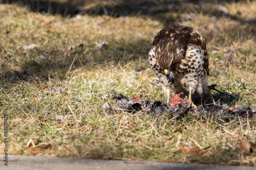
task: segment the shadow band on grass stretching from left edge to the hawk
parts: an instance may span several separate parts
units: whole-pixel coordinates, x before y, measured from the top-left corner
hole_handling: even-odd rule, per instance
[[[107,64],[117,65],[119,63],[125,65],[129,61],[138,60],[139,58],[147,60],[151,43],[148,39],[137,39],[133,43],[111,42],[110,45],[103,46],[100,50],[90,48],[86,51],[83,48],[76,47],[67,52],[59,49],[45,51],[34,48],[28,52],[17,52],[15,54],[17,56],[24,56],[25,53],[29,53],[29,57],[24,57],[23,61],[20,61],[22,64],[19,63],[21,65],[19,70],[10,70],[8,65],[2,64],[3,69],[0,79],[4,82],[28,81],[36,76],[48,80],[49,75],[52,77],[54,72],[58,72],[58,79],[62,80],[65,79],[69,70],[81,67],[90,70],[95,66],[110,66]],[[78,45],[76,44],[76,46]],[[144,46],[147,48],[145,49]],[[9,62],[8,59],[6,61]]]

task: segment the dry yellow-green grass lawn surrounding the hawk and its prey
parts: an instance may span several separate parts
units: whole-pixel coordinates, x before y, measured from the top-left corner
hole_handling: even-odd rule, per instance
[[[255,153],[243,155],[239,147],[244,138],[256,142],[255,116],[162,114],[156,122],[152,115],[106,114],[102,108],[101,97],[107,93],[164,101],[161,87],[152,83],[156,76],[147,53],[168,20],[196,28],[206,39],[209,84],[237,96],[233,100],[212,91],[216,101],[255,106],[256,3],[221,5],[229,15],[220,15],[218,4],[207,3],[120,17],[63,17],[0,5],[0,112],[9,115],[8,154],[256,166]],[[109,44],[96,50],[102,41]],[[24,50],[33,43],[37,47]],[[63,92],[51,90],[57,86]],[[116,106],[114,100],[106,101]],[[56,118],[68,114],[67,119]],[[229,123],[220,125],[226,119]],[[3,138],[1,133],[0,154]],[[208,149],[190,154],[181,147]]]

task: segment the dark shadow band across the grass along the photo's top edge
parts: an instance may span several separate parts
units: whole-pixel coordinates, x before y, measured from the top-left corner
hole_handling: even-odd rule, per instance
[[[242,1],[242,0],[241,0]],[[114,17],[129,15],[146,15],[152,19],[157,19],[165,26],[173,22],[179,22],[181,14],[203,13],[210,16],[230,17],[239,20],[242,23],[255,24],[256,20],[246,20],[237,16],[211,8],[211,5],[221,5],[224,3],[240,2],[239,0],[225,0],[216,2],[196,1],[196,0],[163,0],[163,1],[145,1],[145,0],[67,0],[67,1],[49,1],[49,0],[4,0],[2,3],[16,3],[20,6],[26,6],[33,12],[61,14],[63,17],[72,17],[76,14],[89,15],[111,15]],[[207,7],[206,7],[207,6]],[[172,13],[177,13],[173,16]],[[187,18],[189,19],[189,17]]]

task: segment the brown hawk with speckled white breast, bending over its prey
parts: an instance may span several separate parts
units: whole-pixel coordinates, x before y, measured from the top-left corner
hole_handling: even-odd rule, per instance
[[[160,80],[167,103],[170,91],[215,104],[208,88],[209,62],[202,35],[191,27],[169,25],[156,34],[148,61]],[[191,97],[192,96],[192,97]]]

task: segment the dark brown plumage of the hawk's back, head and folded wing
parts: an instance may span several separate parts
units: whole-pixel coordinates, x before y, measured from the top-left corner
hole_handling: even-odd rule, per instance
[[[202,53],[204,58],[203,68],[206,70],[207,75],[209,75],[209,62],[204,38],[197,30],[178,24],[169,25],[156,34],[153,46],[156,46],[156,57],[161,56],[161,60],[159,61],[163,62],[159,63],[159,65],[165,67],[163,69],[168,69],[173,63],[179,65],[181,60],[185,58],[187,48],[191,44],[197,46]],[[168,54],[165,54],[166,52]],[[172,56],[174,58],[170,63],[169,58],[172,58]],[[175,69],[175,65],[173,69]]]

